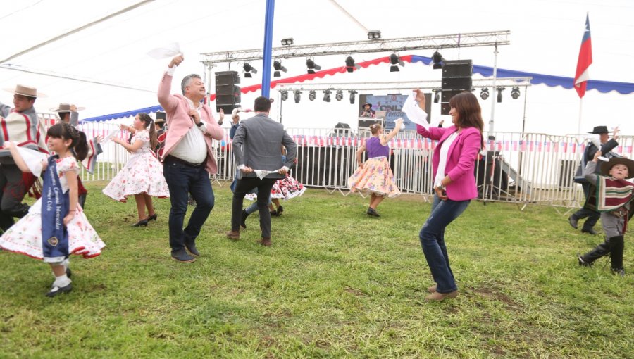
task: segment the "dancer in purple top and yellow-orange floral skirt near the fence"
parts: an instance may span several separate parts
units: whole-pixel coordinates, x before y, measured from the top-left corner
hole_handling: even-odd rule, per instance
[[[361,144],[356,151],[356,162],[359,168],[354,171],[348,179],[350,191],[361,191],[370,194],[370,206],[366,213],[373,217],[380,217],[376,211],[376,207],[385,199],[385,197],[396,197],[401,194],[396,184],[394,184],[394,175],[390,169],[390,163],[387,156],[390,156],[390,147],[387,142],[399,133],[403,125],[402,118],[394,121],[394,130],[389,134],[383,134],[383,128],[380,124],[375,123],[370,126],[372,137]],[[368,151],[368,160],[361,162],[361,154]]]

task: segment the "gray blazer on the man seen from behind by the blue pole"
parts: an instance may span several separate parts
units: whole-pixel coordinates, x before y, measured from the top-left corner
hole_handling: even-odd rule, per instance
[[[286,147],[286,163],[282,163],[282,144]],[[276,171],[283,166],[290,168],[297,156],[297,145],[286,133],[284,126],[264,113],[258,113],[240,123],[233,137],[232,147],[236,165],[247,165],[254,170]],[[238,179],[242,178],[242,171],[237,172]],[[244,176],[257,177],[254,172]],[[275,172],[266,177],[285,176]]]

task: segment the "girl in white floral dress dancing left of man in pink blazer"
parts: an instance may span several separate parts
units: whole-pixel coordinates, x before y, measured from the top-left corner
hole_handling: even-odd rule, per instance
[[[134,134],[130,143],[128,144],[119,138],[114,138],[113,141],[123,146],[132,155],[128,163],[103,189],[103,192],[111,199],[120,202],[125,202],[128,196],[134,195],[135,201],[137,201],[139,222],[136,222],[132,227],[147,226],[147,222],[157,218],[154,206],[152,206],[152,196],[159,198],[170,196],[167,182],[163,177],[163,165],[156,159],[156,155],[152,151],[157,144],[156,130],[147,113],[139,113],[135,117],[132,127],[121,125],[121,129]],[[146,208],[147,215],[145,214]]]

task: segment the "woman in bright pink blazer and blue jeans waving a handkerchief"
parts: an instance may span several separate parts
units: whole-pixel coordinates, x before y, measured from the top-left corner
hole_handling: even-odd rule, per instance
[[[416,90],[416,101],[425,108],[425,96]],[[449,100],[452,126],[447,128],[416,125],[416,132],[438,141],[432,158],[434,201],[429,218],[418,237],[435,285],[429,287],[428,301],[455,298],[458,286],[445,246],[445,228],[478,196],[473,175],[475,156],[483,148],[482,111],[471,92],[463,92]]]

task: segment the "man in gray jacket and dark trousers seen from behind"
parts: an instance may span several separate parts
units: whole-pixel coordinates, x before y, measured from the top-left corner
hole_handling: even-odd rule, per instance
[[[256,115],[242,121],[233,137],[232,149],[237,169],[237,183],[231,207],[231,231],[227,237],[240,239],[240,219],[244,195],[257,187],[258,210],[263,246],[271,246],[271,213],[268,196],[275,181],[284,178],[297,154],[297,146],[282,124],[271,120],[271,100],[260,96],[255,99]],[[282,145],[286,147],[286,163],[282,163]]]

